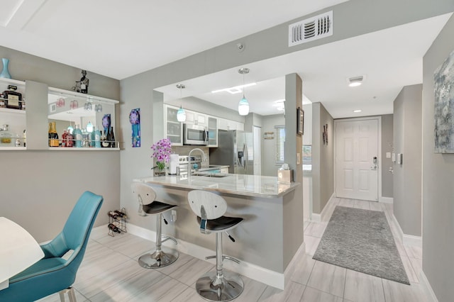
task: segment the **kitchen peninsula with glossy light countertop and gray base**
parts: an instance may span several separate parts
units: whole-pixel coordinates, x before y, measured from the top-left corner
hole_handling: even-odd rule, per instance
[[[227,216],[245,219],[231,231],[236,242],[223,240],[225,255],[236,257],[241,264],[224,262],[228,269],[277,288],[284,288],[284,272],[303,243],[302,196],[295,194],[298,183],[279,183],[277,177],[246,174],[202,174],[190,179],[181,176],[144,177],[142,181],[155,189],[157,200],[177,204],[177,220],[164,228],[183,242],[177,249],[203,258],[196,248],[214,250],[211,236],[201,235],[196,217],[189,208],[187,194],[195,189],[217,192],[228,203]],[[210,255],[210,254],[208,254]]]

